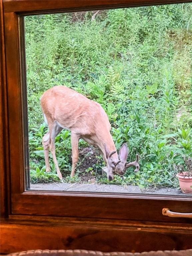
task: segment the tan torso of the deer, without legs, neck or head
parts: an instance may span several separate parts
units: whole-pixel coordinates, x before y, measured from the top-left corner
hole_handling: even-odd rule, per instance
[[[47,90],[41,97],[41,107],[48,122],[55,121],[71,131],[95,133],[98,124],[110,130],[107,114],[99,103],[65,86]]]

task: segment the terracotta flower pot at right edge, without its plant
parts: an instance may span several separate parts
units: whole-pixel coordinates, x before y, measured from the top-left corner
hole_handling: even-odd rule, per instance
[[[187,172],[177,173],[179,178],[179,186],[183,193],[192,194],[192,176],[185,176]]]

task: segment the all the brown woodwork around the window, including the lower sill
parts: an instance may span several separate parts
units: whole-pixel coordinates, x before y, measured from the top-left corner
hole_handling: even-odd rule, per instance
[[[23,16],[177,0],[1,0],[1,253],[29,249],[124,252],[192,247],[191,197],[27,190],[28,136]],[[190,2],[190,1],[188,1]]]

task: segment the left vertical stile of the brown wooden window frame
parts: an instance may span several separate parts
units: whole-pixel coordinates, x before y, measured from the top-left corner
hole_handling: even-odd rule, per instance
[[[20,71],[19,19],[20,17],[15,13],[4,14],[12,193],[18,192],[15,190],[16,184],[20,184],[20,191],[24,191],[23,92]]]

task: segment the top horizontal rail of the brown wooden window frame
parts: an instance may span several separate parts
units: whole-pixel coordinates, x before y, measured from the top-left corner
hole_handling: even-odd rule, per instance
[[[4,11],[22,15],[174,4],[190,0],[4,0]]]

